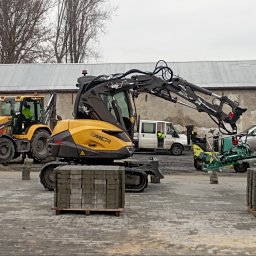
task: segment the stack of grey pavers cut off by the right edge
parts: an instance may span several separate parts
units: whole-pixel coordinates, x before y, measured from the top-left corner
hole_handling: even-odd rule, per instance
[[[246,203],[249,210],[256,214],[256,168],[247,170]]]

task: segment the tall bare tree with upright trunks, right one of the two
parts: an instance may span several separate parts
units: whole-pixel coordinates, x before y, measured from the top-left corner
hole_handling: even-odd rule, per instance
[[[83,62],[97,53],[89,43],[97,40],[114,9],[107,0],[58,0],[54,52],[58,63]]]

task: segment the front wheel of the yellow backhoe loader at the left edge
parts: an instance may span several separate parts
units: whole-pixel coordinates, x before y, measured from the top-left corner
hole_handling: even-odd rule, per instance
[[[0,138],[0,163],[8,163],[14,158],[14,143],[8,138]]]

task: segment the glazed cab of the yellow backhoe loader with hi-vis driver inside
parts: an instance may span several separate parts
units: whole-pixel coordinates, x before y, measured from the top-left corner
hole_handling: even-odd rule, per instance
[[[29,109],[31,115],[24,115]],[[41,96],[9,96],[1,98],[0,115],[12,119],[12,133],[24,134],[33,124],[43,123],[44,98]]]

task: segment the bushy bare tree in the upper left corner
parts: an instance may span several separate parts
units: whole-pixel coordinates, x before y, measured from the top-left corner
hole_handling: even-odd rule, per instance
[[[0,62],[47,62],[49,0],[0,0]]]

